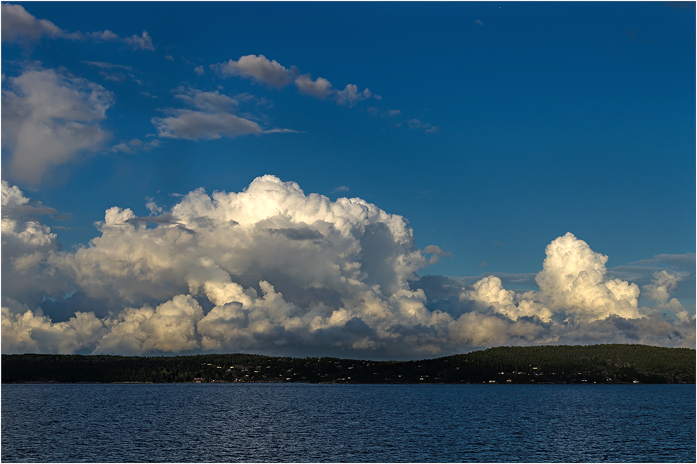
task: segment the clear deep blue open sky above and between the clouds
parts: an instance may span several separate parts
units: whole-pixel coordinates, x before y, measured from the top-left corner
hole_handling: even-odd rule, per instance
[[[3,42],[8,77],[40,61],[114,94],[100,123],[111,140],[40,184],[13,178],[3,148],[3,179],[72,214],[72,221],[45,220],[73,228],[54,229],[64,247],[95,237],[92,223],[109,207],[145,216],[146,197],[171,205],[171,193],[201,186],[240,191],[254,177],[273,174],[306,193],[358,196],[405,216],[416,246],[435,244],[453,254],[424,273],[535,273],[546,244],[565,232],[609,255],[608,266],[694,253],[694,7],[20,4],[64,31],[108,29],[122,38],[147,31],[155,47],[48,37]],[[382,98],[349,108],[292,84],[277,89],[210,70],[250,54]],[[129,66],[141,83],[109,81],[89,61]],[[206,74],[194,72],[198,65]],[[159,137],[160,146],[148,152],[109,150],[158,138],[148,138],[158,134],[151,118],[184,107],[174,97],[180,86],[265,98],[270,104],[240,112],[254,112],[265,129],[303,133]],[[401,114],[383,116],[388,110]],[[414,119],[437,131],[411,129]]]

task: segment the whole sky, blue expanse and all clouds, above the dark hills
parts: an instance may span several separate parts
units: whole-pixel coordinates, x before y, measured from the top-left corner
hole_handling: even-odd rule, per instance
[[[2,352],[695,346],[688,3],[2,3]]]

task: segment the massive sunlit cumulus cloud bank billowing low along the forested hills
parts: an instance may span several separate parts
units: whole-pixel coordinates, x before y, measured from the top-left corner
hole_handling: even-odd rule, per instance
[[[267,175],[240,193],[192,191],[164,213],[148,204],[159,216],[112,207],[100,237],[70,253],[28,205],[3,183],[5,353],[417,358],[500,344],[694,345],[694,314],[668,302],[675,276],[645,289],[657,309],[640,307],[639,288],[608,278],[607,257],[572,234],[547,247],[539,291],[443,278],[459,296],[443,310],[416,273],[447,253],[415,248],[404,218],[360,198],[306,195]],[[54,321],[61,305],[75,311]]]

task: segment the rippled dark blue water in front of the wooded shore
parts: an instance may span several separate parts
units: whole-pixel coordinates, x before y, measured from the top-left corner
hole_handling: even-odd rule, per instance
[[[3,462],[695,462],[694,385],[2,385]]]

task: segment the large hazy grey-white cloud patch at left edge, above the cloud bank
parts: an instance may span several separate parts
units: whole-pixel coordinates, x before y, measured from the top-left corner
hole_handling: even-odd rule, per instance
[[[54,166],[95,152],[109,139],[99,122],[114,102],[109,90],[56,70],[31,67],[2,93],[2,143],[13,177],[36,186]]]

